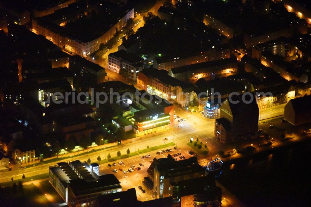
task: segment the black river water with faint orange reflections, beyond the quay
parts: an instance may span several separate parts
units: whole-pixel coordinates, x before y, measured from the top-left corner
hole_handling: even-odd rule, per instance
[[[311,141],[224,164],[217,180],[246,206],[311,206]]]

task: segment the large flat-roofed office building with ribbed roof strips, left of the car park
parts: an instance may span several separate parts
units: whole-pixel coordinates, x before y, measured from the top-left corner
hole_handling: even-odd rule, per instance
[[[49,167],[49,182],[70,207],[94,206],[99,195],[121,192],[113,174],[98,176],[86,162],[57,163]]]

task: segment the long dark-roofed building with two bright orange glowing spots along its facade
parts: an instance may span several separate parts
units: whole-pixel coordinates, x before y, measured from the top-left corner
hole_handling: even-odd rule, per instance
[[[236,58],[201,62],[192,65],[169,69],[169,75],[180,81],[193,81],[220,75],[230,75],[238,71]]]

